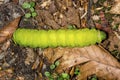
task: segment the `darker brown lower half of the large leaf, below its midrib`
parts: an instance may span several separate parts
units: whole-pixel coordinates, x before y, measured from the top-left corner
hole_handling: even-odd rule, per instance
[[[120,80],[120,68],[105,65],[96,61],[90,61],[80,67],[81,75],[77,80],[87,80],[87,77],[95,74],[100,80]]]

